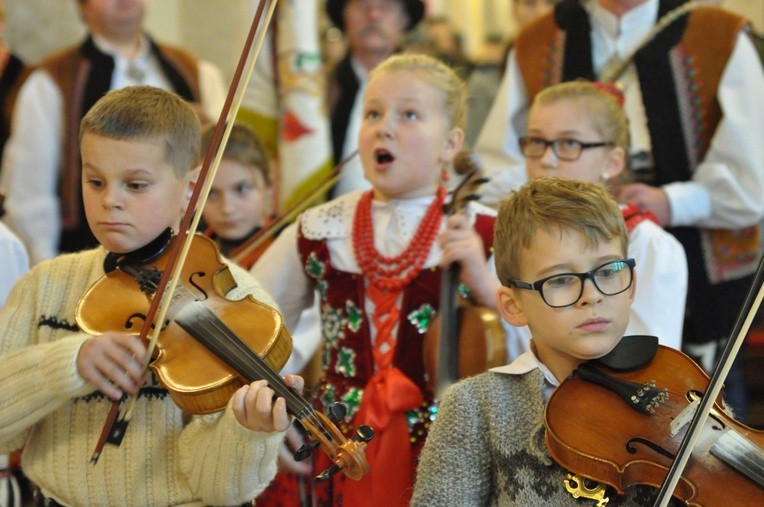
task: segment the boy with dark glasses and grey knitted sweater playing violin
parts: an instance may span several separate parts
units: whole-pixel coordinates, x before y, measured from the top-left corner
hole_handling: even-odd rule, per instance
[[[628,241],[618,205],[593,183],[542,178],[501,203],[496,302],[530,328],[531,347],[446,391],[412,505],[581,505],[544,446],[544,407],[579,364],[623,337],[636,290]],[[635,487],[609,505],[652,505],[651,494]]]

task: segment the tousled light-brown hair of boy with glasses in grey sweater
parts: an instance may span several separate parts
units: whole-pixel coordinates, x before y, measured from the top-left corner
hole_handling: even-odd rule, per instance
[[[522,250],[539,230],[581,232],[590,247],[618,240],[624,256],[629,244],[621,210],[604,188],[556,177],[531,180],[499,205],[493,237],[499,280],[519,276]]]

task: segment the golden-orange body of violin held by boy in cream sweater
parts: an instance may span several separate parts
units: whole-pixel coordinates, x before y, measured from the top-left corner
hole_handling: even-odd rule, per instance
[[[240,301],[224,297],[236,282],[212,240],[197,234],[190,251],[179,285],[203,301],[274,371],[281,370],[292,352],[292,338],[282,324],[281,314],[249,295]],[[163,255],[141,269],[154,267],[161,272],[167,257]],[[118,301],[109,303],[115,301],[115,295]],[[150,295],[138,290],[135,278],[117,269],[99,279],[80,299],[77,324],[94,335],[107,331],[139,335],[150,304]],[[217,412],[250,380],[242,378],[174,321],[179,311],[174,306],[185,304],[171,306],[149,367],[181,409],[191,414]]]

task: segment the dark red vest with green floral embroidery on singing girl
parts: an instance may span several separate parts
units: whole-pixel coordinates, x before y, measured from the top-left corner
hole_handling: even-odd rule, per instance
[[[492,216],[477,215],[475,230],[483,239],[486,256],[493,243]],[[311,240],[298,234],[303,268],[321,295],[323,378],[316,406],[325,411],[341,401],[348,407],[343,432],[358,411],[363,389],[374,375],[369,318],[365,313],[364,276],[335,269],[325,239]],[[409,416],[412,444],[421,445],[429,426],[433,395],[427,391],[422,358],[424,333],[438,311],[440,268],[423,269],[403,290],[393,366],[400,369],[424,393],[420,410]],[[425,424],[426,423],[426,424]],[[417,446],[418,447],[418,446]]]

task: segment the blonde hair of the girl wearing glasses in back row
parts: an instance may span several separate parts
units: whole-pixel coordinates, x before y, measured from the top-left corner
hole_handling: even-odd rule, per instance
[[[532,107],[548,106],[563,100],[581,103],[602,139],[614,142],[616,147],[623,148],[625,154],[629,153],[629,120],[613,95],[590,81],[568,81],[541,90],[533,99]]]

